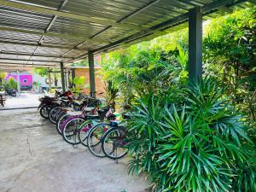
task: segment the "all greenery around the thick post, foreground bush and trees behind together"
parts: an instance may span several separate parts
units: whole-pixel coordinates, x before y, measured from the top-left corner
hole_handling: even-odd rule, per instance
[[[255,13],[205,25],[204,72],[215,80],[189,89],[187,29],[102,55],[103,79],[136,109],[129,170],[148,172],[155,190],[256,191]]]

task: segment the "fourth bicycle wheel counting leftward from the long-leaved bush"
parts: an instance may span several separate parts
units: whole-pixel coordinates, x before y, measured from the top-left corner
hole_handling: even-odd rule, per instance
[[[69,144],[79,144],[79,126],[84,123],[84,119],[76,118],[67,122],[61,130],[63,139]]]

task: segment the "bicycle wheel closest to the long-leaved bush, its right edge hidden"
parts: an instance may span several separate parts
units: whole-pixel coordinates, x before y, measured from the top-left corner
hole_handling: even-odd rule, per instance
[[[114,127],[102,137],[102,151],[110,159],[117,160],[127,154],[128,149],[126,131],[124,127]]]

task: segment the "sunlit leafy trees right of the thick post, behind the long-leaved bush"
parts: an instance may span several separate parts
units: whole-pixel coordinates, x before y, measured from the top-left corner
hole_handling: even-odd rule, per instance
[[[224,94],[245,116],[256,143],[255,7],[238,11],[207,26],[204,39],[206,72],[221,81]]]

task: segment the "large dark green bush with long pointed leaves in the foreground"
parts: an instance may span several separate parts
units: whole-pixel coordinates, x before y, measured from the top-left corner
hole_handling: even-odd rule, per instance
[[[247,127],[218,84],[207,78],[180,96],[137,102],[129,123],[129,171],[148,172],[155,191],[256,191]]]

